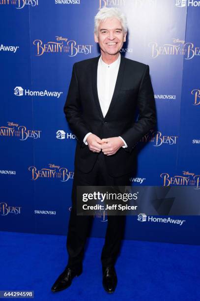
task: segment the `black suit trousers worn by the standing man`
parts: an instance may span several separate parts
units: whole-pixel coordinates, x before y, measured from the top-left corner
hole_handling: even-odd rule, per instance
[[[76,213],[76,186],[120,186],[130,185],[130,174],[122,177],[111,177],[108,174],[105,164],[105,155],[101,151],[92,170],[85,174],[75,169],[72,187],[72,209],[70,212],[67,251],[68,267],[75,268],[82,265],[84,248],[88,231],[90,230],[93,216],[77,215]],[[105,237],[105,243],[101,253],[101,262],[103,267],[115,264],[120,251],[120,243],[123,238],[125,227],[125,215],[108,215],[108,225]]]

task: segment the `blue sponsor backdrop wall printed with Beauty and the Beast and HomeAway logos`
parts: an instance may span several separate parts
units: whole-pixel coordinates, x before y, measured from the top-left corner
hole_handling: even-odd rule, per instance
[[[200,1],[0,0],[2,231],[67,234],[76,136],[63,106],[73,64],[99,55],[93,21],[105,6],[126,13],[120,52],[149,65],[157,107],[130,186],[190,186],[188,209],[200,189]],[[125,238],[199,244],[196,214],[127,216]],[[94,214],[91,236],[106,225]]]

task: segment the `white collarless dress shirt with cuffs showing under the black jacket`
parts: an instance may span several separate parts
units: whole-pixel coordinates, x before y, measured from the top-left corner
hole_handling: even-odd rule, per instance
[[[111,100],[114,93],[114,87],[116,84],[116,78],[119,70],[119,64],[121,60],[121,55],[119,54],[118,58],[111,64],[107,64],[102,60],[102,57],[99,58],[98,67],[97,67],[97,91],[98,98],[101,107],[103,117],[106,116]],[[91,134],[90,132],[86,134],[84,138],[84,143],[87,145],[86,139]],[[124,143],[122,148],[127,148],[126,142],[119,136]]]

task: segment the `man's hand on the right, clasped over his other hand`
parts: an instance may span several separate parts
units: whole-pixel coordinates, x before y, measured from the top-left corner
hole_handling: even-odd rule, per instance
[[[123,141],[119,137],[101,139],[101,149],[104,154],[110,156],[117,152],[122,146]]]

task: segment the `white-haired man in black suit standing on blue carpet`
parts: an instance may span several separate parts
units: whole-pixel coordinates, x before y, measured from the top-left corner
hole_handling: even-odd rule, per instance
[[[156,123],[149,66],[120,55],[126,41],[126,17],[117,8],[102,8],[95,16],[94,39],[101,56],[73,65],[64,113],[78,143],[72,188],[67,251],[68,264],[52,287],[71,285],[82,273],[84,247],[92,216],[76,214],[78,185],[130,185],[135,145]],[[136,118],[136,109],[139,118]],[[101,262],[104,289],[117,283],[114,264],[124,232],[125,216],[108,215]]]

